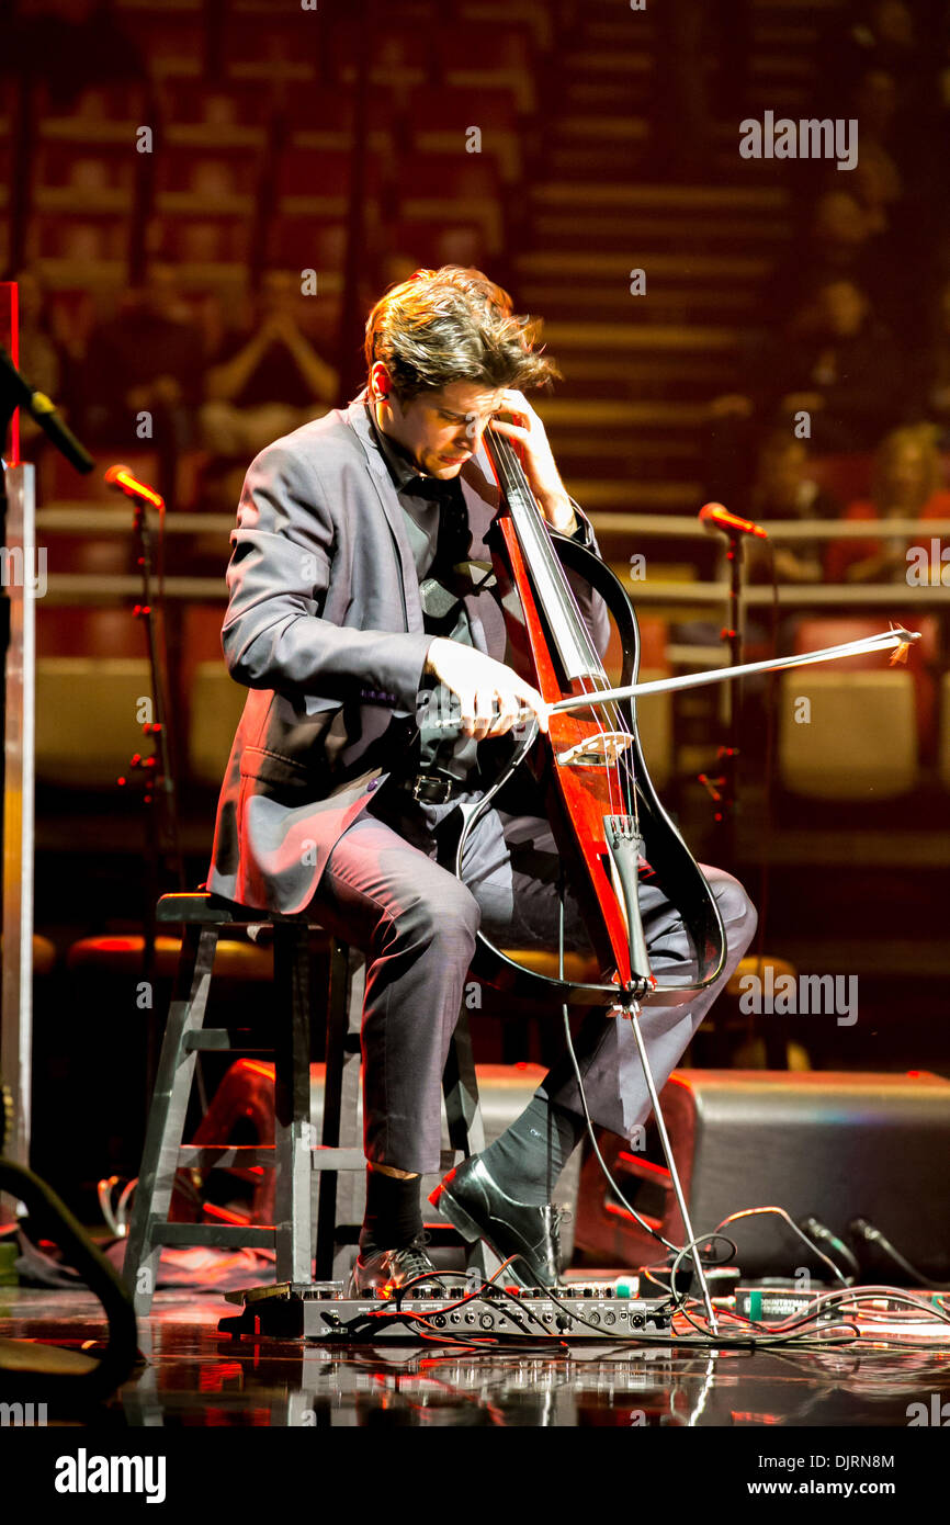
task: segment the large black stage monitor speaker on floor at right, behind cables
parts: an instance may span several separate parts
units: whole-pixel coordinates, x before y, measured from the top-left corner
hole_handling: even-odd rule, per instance
[[[950,1281],[950,1081],[904,1075],[787,1071],[674,1071],[660,1104],[695,1234],[744,1208],[813,1215],[862,1261],[862,1279],[909,1284],[848,1234],[868,1218],[924,1276]],[[605,1147],[604,1147],[605,1145]],[[616,1135],[601,1145],[627,1200],[674,1244],[685,1241],[656,1128],[636,1151]],[[639,1228],[586,1161],[575,1243],[590,1263],[645,1266],[665,1250]],[[735,1240],[744,1276],[794,1276],[805,1267],[834,1281],[775,1214],[741,1218]],[[845,1267],[846,1270],[848,1267]]]

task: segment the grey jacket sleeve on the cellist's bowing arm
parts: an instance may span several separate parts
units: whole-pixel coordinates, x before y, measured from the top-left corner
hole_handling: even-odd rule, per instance
[[[322,618],[334,525],[313,461],[268,445],[247,471],[230,543],[221,645],[238,683],[335,700],[371,692],[412,711],[432,636]]]

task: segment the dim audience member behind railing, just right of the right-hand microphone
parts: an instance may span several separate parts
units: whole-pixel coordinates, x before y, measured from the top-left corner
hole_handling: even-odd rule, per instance
[[[787,430],[767,435],[749,500],[749,517],[767,528],[776,518],[839,518],[840,503],[825,493],[810,473],[808,445]],[[775,546],[779,583],[820,583],[823,540],[793,540]],[[752,583],[772,580],[772,552],[761,540],[746,546],[746,576]]]

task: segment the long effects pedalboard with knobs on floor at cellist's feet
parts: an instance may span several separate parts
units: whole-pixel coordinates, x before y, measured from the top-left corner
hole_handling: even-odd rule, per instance
[[[442,1333],[445,1339],[636,1339],[669,1328],[666,1299],[624,1296],[615,1283],[572,1283],[557,1290],[557,1301],[525,1287],[482,1287],[471,1295],[464,1284],[432,1293],[419,1289],[415,1296],[354,1299],[343,1295],[340,1281],[285,1281],[224,1296],[242,1304],[242,1312],[220,1319],[221,1334],[313,1339],[322,1345],[428,1342]]]

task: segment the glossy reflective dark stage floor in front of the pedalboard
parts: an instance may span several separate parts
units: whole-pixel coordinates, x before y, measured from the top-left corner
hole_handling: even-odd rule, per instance
[[[950,1342],[939,1348],[926,1330],[901,1350],[884,1348],[877,1331],[820,1351],[576,1344],[550,1354],[538,1345],[473,1354],[432,1344],[328,1348],[220,1334],[218,1319],[235,1312],[221,1295],[159,1293],[139,1321],[145,1363],[84,1423],[907,1429],[923,1412],[912,1405],[936,1415],[918,1423],[939,1424],[950,1400]],[[0,1337],[79,1350],[104,1334],[102,1310],[85,1292],[0,1287]],[[843,1438],[828,1444],[846,1449]]]

